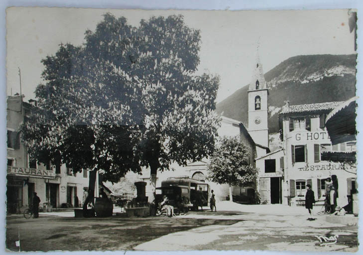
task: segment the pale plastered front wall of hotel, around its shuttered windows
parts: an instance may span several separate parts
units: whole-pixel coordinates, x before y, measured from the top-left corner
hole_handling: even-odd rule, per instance
[[[286,150],[285,157],[285,189],[284,189],[284,197],[287,199],[290,197],[290,183],[296,180],[305,181],[307,184],[307,180],[311,179],[312,182],[312,190],[314,191],[315,200],[324,200],[324,196],[318,197],[318,186],[319,180],[326,179],[331,175],[337,175],[339,182],[339,198],[337,199],[337,203],[340,206],[345,206],[348,204],[348,178],[356,178],[355,174],[357,169],[355,166],[345,166],[349,167],[349,169],[344,169],[341,163],[329,162],[329,161],[321,161],[319,158],[319,162],[315,158],[314,154],[314,144],[319,144],[319,153],[321,152],[321,144],[331,144],[328,132],[325,128],[320,128],[320,120],[319,116],[311,116],[311,130],[289,130],[289,119],[285,117],[283,120],[283,130],[284,130],[284,147]],[[305,145],[307,150],[307,158],[305,156],[305,162],[295,162],[292,161],[292,148],[291,145]],[[341,145],[338,145],[341,146]],[[338,147],[339,148],[339,147]],[[349,171],[349,172],[348,172]],[[321,181],[320,181],[321,183]],[[323,194],[322,192],[321,194]],[[304,193],[305,194],[305,193]],[[297,199],[305,199],[304,196],[294,197],[291,200]],[[287,203],[287,202],[286,202]]]

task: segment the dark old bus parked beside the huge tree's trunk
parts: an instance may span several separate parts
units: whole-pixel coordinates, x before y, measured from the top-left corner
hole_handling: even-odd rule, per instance
[[[161,194],[156,195],[157,202],[162,201],[163,196],[167,196],[169,204],[175,208],[180,208],[181,205],[186,210],[197,210],[197,191],[202,188],[203,206],[208,206],[209,202],[209,185],[207,183],[195,180],[189,177],[169,177],[161,182]]]

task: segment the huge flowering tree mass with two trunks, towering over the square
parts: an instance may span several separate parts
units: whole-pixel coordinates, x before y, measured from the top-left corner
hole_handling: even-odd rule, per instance
[[[149,167],[155,188],[157,171],[208,156],[219,79],[195,75],[200,40],[181,15],[133,27],[105,14],[83,45],[61,44],[42,60],[38,105],[22,127],[30,153],[89,169],[91,190],[96,171],[117,182]]]

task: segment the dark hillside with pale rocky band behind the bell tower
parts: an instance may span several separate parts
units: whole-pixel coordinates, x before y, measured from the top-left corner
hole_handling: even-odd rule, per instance
[[[345,101],[356,94],[356,55],[291,57],[265,73],[269,89],[268,127],[278,131],[278,113],[290,105]],[[217,112],[248,125],[248,85],[217,104]]]

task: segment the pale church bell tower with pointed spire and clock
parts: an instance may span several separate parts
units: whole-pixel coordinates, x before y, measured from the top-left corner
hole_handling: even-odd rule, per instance
[[[258,56],[253,68],[252,80],[248,87],[248,132],[254,142],[268,147],[268,89]]]

